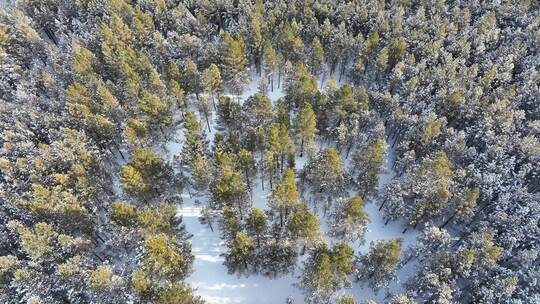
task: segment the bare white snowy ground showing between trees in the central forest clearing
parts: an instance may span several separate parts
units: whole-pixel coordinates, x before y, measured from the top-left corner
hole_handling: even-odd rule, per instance
[[[240,96],[240,100],[243,101],[247,97],[257,92],[257,86],[259,78],[255,75],[252,76],[252,82],[249,88]],[[277,84],[277,79],[276,83]],[[273,92],[268,92],[270,99],[275,102],[278,98],[284,96],[284,92],[274,87]],[[215,126],[215,114],[211,120],[214,125],[212,126],[212,132],[207,132],[208,139],[211,141],[216,132]],[[178,155],[183,144],[183,130],[179,127],[177,133],[173,136],[162,151],[165,159],[172,160],[174,155]],[[392,166],[394,154],[389,151],[385,160],[385,170],[380,175],[379,187],[383,187],[388,183],[394,173],[390,169]],[[306,157],[297,158],[297,168],[302,168],[305,163]],[[262,190],[260,182],[255,182],[253,189],[253,205],[258,208],[267,208],[266,201],[270,195],[268,189]],[[304,303],[303,295],[301,291],[295,287],[295,283],[298,281],[299,268],[295,270],[295,273],[288,274],[287,276],[271,279],[260,275],[237,276],[235,274],[228,274],[227,268],[223,265],[224,258],[221,256],[225,253],[225,244],[220,238],[219,231],[216,225],[214,225],[214,231],[210,229],[208,224],[203,224],[199,221],[200,205],[196,204],[196,200],[205,202],[206,197],[191,197],[188,193],[183,195],[184,201],[182,206],[178,210],[178,215],[182,216],[183,222],[186,225],[187,231],[193,235],[190,239],[192,243],[193,254],[195,255],[195,262],[193,265],[193,273],[188,278],[188,283],[191,284],[197,291],[196,293],[202,296],[210,304],[227,304],[227,303],[285,303],[288,296],[294,299],[295,303]],[[417,231],[409,229],[406,234],[402,234],[402,223],[392,222],[388,225],[384,225],[381,212],[378,210],[378,202],[367,201],[365,209],[369,214],[370,224],[368,226],[368,233],[365,236],[366,242],[364,244],[351,244],[355,252],[367,252],[371,241],[375,240],[388,240],[395,238],[403,238],[404,248],[411,245],[417,235]],[[327,231],[326,219],[319,214],[321,228],[323,231]],[[332,238],[327,237],[327,241],[333,242]],[[301,259],[299,259],[301,260]],[[299,262],[301,264],[301,262]],[[298,265],[300,266],[300,265]],[[401,281],[404,281],[408,275],[411,274],[411,268],[414,267],[414,263],[409,263],[403,269],[398,271],[398,277]],[[399,292],[402,290],[400,282],[393,282],[389,286],[389,290],[392,292]],[[361,286],[359,283],[354,282],[352,289],[341,291],[343,294],[354,295],[357,301],[363,299],[374,299],[382,301],[386,292],[384,290],[375,294],[369,287]]]

